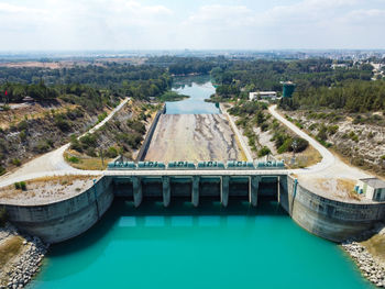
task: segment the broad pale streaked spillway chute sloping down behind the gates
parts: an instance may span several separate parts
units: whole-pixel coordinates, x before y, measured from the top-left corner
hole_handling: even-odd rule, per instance
[[[222,114],[163,114],[145,160],[242,160]]]

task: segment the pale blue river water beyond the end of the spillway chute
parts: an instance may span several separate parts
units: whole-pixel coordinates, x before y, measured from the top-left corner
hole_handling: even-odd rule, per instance
[[[176,78],[173,84],[173,90],[190,98],[166,102],[167,114],[207,114],[220,113],[218,105],[211,102],[205,102],[216,92],[216,88],[208,76],[195,76]]]

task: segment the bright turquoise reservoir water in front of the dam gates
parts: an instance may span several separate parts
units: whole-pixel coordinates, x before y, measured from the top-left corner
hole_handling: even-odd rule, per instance
[[[228,209],[116,200],[86,234],[53,246],[30,288],[372,288],[333,243],[275,202]]]

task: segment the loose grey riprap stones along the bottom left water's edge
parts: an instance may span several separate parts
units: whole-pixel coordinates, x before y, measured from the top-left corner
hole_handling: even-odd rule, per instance
[[[12,225],[8,225],[2,233],[2,237],[20,235]],[[6,284],[3,281],[0,289],[24,288],[38,271],[48,248],[48,245],[44,244],[38,237],[21,236],[24,238],[23,248],[1,273],[2,280],[8,279],[8,281]]]

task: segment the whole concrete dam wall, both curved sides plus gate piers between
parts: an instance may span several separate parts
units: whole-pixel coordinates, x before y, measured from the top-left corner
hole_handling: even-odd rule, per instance
[[[186,198],[196,207],[200,198],[217,199],[223,207],[231,202],[231,198],[242,198],[257,207],[258,198],[274,197],[296,223],[333,242],[358,235],[385,220],[385,203],[346,203],[327,199],[307,190],[289,176],[105,176],[90,189],[64,201],[4,207],[10,221],[20,230],[47,243],[58,243],[91,227],[114,197],[124,197],[135,207],[145,199],[157,199],[168,207],[174,198]]]

